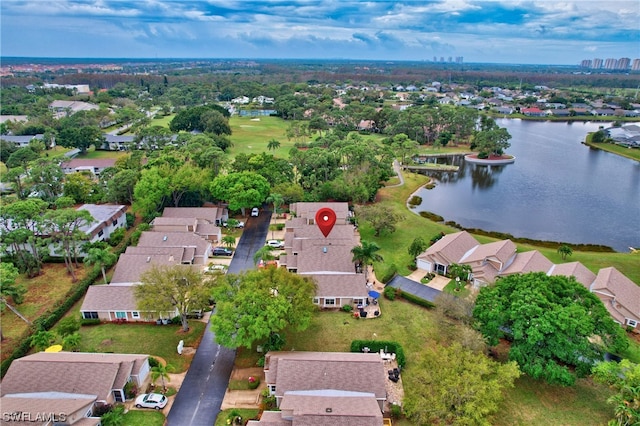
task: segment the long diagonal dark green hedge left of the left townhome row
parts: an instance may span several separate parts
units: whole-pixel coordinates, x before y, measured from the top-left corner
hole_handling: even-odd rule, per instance
[[[112,264],[106,265],[105,268],[108,269],[112,267],[117,262],[119,255],[124,253],[127,249],[127,246],[128,241],[116,251],[116,254],[118,255],[116,256],[116,261]],[[86,277],[78,282],[78,285],[69,290],[63,299],[55,302],[53,305],[54,309],[52,311],[46,311],[33,321],[32,326],[23,335],[22,340],[14,349],[11,356],[0,364],[0,377],[4,377],[14,359],[22,358],[29,352],[29,349],[31,349],[31,336],[39,330],[51,329],[69,311],[69,309],[71,309],[71,307],[85,295],[87,288],[89,288],[89,286],[100,277],[102,277],[102,271],[100,267],[96,265]]]

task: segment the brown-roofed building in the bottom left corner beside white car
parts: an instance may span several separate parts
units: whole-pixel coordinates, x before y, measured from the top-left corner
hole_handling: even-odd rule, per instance
[[[14,360],[2,379],[2,423],[99,426],[103,405],[124,402],[125,385],[151,381],[148,355],[38,352]]]

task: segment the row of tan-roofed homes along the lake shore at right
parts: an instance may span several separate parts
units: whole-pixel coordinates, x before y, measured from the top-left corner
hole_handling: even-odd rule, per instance
[[[537,250],[518,253],[511,240],[480,244],[466,231],[445,235],[416,258],[419,269],[441,275],[454,263],[471,267],[476,288],[528,272],[572,276],[602,300],[616,322],[639,328],[640,287],[613,267],[594,274],[580,262],[554,264]]]

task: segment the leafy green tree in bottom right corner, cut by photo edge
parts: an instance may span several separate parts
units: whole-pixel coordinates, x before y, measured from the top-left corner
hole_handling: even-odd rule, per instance
[[[607,402],[614,406],[611,426],[640,424],[640,364],[628,359],[620,363],[602,362],[593,369],[596,381],[609,385],[616,391]]]

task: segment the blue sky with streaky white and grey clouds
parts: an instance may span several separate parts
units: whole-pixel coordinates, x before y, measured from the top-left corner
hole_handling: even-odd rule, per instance
[[[2,56],[640,58],[640,0],[1,0],[0,12]]]

